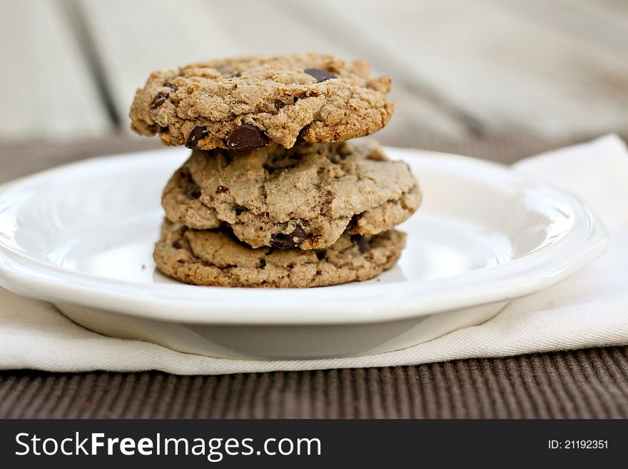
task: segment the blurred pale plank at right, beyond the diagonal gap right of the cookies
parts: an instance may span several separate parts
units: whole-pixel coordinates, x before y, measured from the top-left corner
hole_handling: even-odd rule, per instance
[[[307,16],[344,24],[367,59],[417,77],[483,132],[562,139],[628,129],[628,61],[501,3],[319,0]]]

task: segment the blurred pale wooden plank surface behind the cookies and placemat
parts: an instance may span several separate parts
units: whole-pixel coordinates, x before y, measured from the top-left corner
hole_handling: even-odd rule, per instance
[[[326,51],[393,77],[380,134],[415,145],[628,134],[625,0],[1,0],[0,143],[128,132],[153,69]]]

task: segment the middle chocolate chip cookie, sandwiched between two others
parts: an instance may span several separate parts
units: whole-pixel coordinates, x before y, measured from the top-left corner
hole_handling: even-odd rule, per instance
[[[372,236],[405,221],[421,193],[410,168],[375,141],[195,150],[163,191],[170,221],[228,223],[253,248],[318,249],[347,231]]]

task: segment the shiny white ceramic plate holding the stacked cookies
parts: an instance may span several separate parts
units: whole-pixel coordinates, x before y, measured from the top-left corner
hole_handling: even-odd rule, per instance
[[[188,151],[110,156],[0,190],[0,282],[111,336],[190,353],[300,358],[376,353],[485,321],[607,244],[576,198],[505,166],[388,148],[424,202],[395,268],[309,289],[188,286],[155,271],[161,189]]]

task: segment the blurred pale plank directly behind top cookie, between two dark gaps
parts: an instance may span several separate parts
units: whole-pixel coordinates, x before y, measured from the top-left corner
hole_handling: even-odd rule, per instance
[[[367,52],[338,41],[307,16],[265,1],[111,0],[81,1],[78,7],[90,26],[125,127],[133,94],[154,69],[240,54],[325,51],[352,58]],[[378,72],[388,70],[380,67]],[[404,132],[449,138],[467,133],[455,116],[404,86],[394,87],[393,100],[398,103],[393,122]]]

